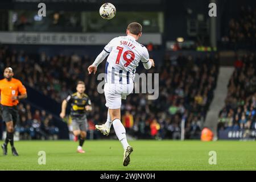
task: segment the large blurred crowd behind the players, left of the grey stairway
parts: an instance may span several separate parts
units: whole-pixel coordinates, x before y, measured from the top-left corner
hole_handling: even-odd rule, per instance
[[[95,125],[106,121],[107,109],[104,94],[97,92],[97,84],[101,80],[97,81],[97,74],[89,76],[87,73],[92,62],[93,59],[76,54],[49,57],[43,52],[38,56],[30,56],[7,47],[0,49],[1,70],[12,67],[16,78],[59,103],[68,94],[75,92],[78,80],[85,81],[85,92],[93,106],[93,111],[88,113],[88,121]],[[159,67],[146,71],[140,65],[138,73],[159,73],[159,98],[148,100],[148,94],[131,94],[127,100],[122,101],[122,122],[127,134],[137,138],[179,139],[181,123],[184,123],[185,137],[199,138],[216,87],[218,64],[217,55],[166,55]],[[104,73],[104,68],[105,65],[101,64],[98,73]],[[23,110],[28,115],[29,112]],[[53,123],[50,115],[46,116],[43,111],[35,111],[32,120],[23,115],[22,125],[28,121],[33,123],[33,119],[39,125],[47,123],[52,126]],[[90,129],[95,130],[93,125]],[[114,136],[113,130],[111,135]]]

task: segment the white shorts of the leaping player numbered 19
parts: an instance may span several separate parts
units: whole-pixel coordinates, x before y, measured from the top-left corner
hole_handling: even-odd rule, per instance
[[[121,100],[126,99],[133,92],[134,84],[109,84],[104,85],[106,106],[109,109],[121,108]]]

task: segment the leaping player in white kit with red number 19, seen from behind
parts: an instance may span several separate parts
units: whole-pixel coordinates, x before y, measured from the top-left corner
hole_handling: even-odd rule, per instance
[[[104,135],[109,135],[113,123],[115,134],[121,141],[123,149],[123,166],[130,163],[130,154],[133,152],[126,139],[125,127],[121,119],[121,100],[126,99],[134,88],[136,68],[141,61],[144,68],[154,67],[154,60],[149,59],[147,48],[137,42],[142,35],[142,26],[139,23],[130,23],[126,30],[127,36],[112,39],[104,50],[97,56],[88,72],[96,73],[97,66],[109,55],[105,66],[104,93],[108,107],[108,119],[104,125],[96,125],[96,129]]]

